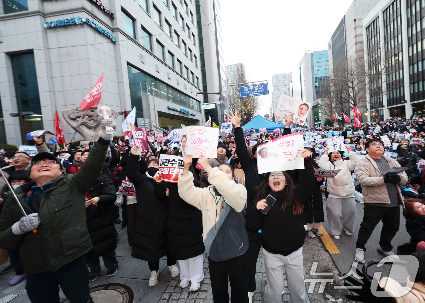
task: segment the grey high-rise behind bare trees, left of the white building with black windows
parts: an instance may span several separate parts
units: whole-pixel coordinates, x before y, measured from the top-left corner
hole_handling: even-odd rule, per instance
[[[365,68],[363,18],[378,2],[379,0],[354,0],[328,42],[329,69],[332,78],[336,79],[334,84],[346,85],[343,83],[343,79],[353,79],[356,76],[358,78],[358,83],[356,84],[357,92],[355,94],[347,92],[347,96],[344,98],[350,99],[348,95],[355,95],[356,99],[351,98],[351,102],[346,102],[342,109],[346,115],[350,116],[351,120],[354,119],[352,111],[354,103],[357,104],[357,108],[362,114],[367,109],[366,82],[364,77],[359,76],[360,74],[357,73]],[[348,74],[348,76],[344,76],[344,73]]]

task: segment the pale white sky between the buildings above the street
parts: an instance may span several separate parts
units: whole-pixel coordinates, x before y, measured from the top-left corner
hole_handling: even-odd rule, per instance
[[[295,70],[307,49],[328,48],[352,0],[221,0],[224,64],[242,62],[250,81],[268,80],[258,114],[269,113],[272,75]]]

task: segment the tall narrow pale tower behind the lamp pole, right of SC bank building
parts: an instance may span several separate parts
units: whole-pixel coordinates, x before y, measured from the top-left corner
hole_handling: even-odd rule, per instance
[[[171,0],[164,0],[171,1]],[[184,0],[175,0],[184,1]],[[188,1],[188,0],[186,0]],[[217,67],[217,52],[215,48],[215,28],[214,28],[214,9],[210,0],[189,0],[195,1],[196,20],[198,25],[198,40],[200,51],[200,64],[202,75],[202,91],[205,93],[216,93],[220,90],[218,84],[218,67]],[[220,60],[221,85],[223,95],[226,95],[225,81],[226,69],[223,59],[223,40],[221,39],[221,17],[220,17],[220,1],[215,2],[215,17],[217,21],[217,36],[218,36],[218,57]],[[219,95],[205,94],[204,103],[217,102]],[[212,121],[216,124],[221,123],[221,113],[218,112],[218,107],[215,109],[202,110],[208,120],[211,116]]]

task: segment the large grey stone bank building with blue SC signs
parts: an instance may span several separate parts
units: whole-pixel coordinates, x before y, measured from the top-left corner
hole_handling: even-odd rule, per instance
[[[56,111],[65,140],[71,140],[74,130],[61,110],[79,107],[102,73],[100,104],[117,112],[135,106],[136,124],[150,117],[164,129],[201,125],[194,1],[4,1],[0,120],[5,132],[0,132],[6,136],[0,143],[25,144],[33,130],[54,132]],[[122,135],[122,119],[117,118],[116,135]]]

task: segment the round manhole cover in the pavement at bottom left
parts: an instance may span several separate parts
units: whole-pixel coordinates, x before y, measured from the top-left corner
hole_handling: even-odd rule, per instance
[[[94,303],[133,303],[133,290],[125,284],[108,283],[90,289]],[[69,303],[63,300],[61,303]]]

